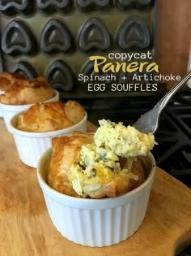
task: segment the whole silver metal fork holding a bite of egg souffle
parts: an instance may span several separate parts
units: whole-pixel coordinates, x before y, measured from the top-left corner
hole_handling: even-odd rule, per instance
[[[159,117],[164,107],[167,106],[172,96],[180,89],[182,85],[185,85],[190,78],[191,71],[189,71],[174,87],[172,87],[172,89],[170,89],[168,93],[166,93],[163,98],[159,100],[151,111],[147,111],[145,114],[141,115],[137,122],[133,124],[134,128],[137,128],[140,132],[155,133],[159,127]]]

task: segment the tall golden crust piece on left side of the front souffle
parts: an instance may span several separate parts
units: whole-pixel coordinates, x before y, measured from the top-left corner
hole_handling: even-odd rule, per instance
[[[82,145],[91,143],[92,137],[82,132],[73,132],[72,136],[55,137],[52,140],[53,154],[49,165],[48,184],[53,189],[69,196],[79,197],[70,186],[67,171],[74,163]]]

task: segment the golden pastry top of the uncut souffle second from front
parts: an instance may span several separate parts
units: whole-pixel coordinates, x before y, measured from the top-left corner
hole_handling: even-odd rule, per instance
[[[36,103],[19,115],[17,128],[26,132],[50,132],[69,128],[83,119],[85,111],[78,102]]]

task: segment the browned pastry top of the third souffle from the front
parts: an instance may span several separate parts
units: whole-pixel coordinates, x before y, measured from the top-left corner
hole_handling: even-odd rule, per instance
[[[0,96],[0,102],[7,105],[25,105],[44,102],[53,98],[53,89],[39,76],[33,80],[15,79],[13,85]]]

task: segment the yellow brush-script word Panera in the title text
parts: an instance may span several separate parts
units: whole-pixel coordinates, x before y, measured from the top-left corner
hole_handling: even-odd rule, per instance
[[[94,72],[157,72],[159,73],[159,65],[149,62],[132,62],[132,63],[109,63],[104,56],[91,56],[90,60],[94,62]]]

